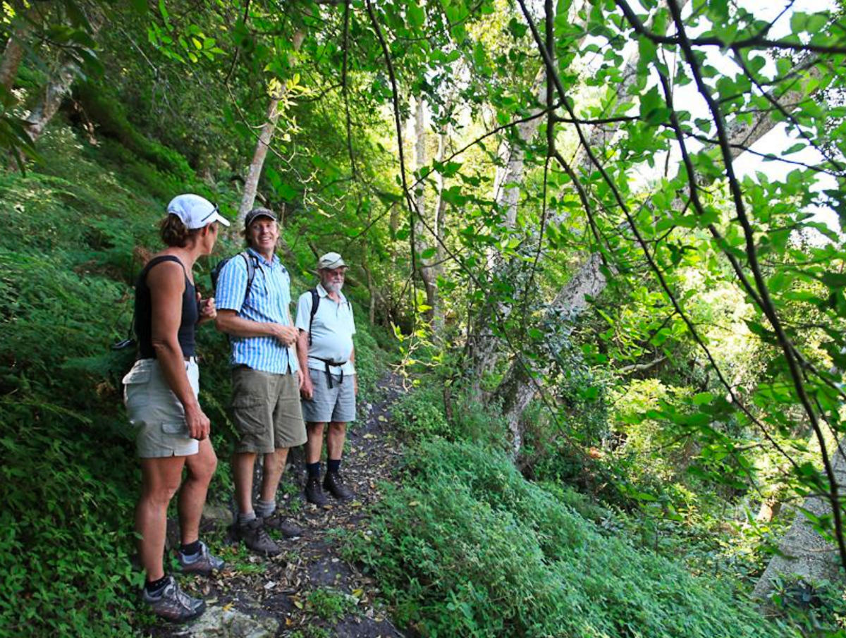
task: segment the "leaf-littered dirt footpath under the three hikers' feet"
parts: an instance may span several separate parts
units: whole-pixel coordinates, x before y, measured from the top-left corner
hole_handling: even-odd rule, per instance
[[[389,481],[398,459],[391,435],[390,410],[402,393],[398,378],[387,376],[372,404],[360,405],[366,418],[348,433],[343,476],[355,498],[332,501],[327,509],[305,503],[301,465],[288,472],[279,503],[305,528],[299,539],[278,540],[281,555],[250,555],[228,536],[228,509],[210,508],[203,538],[227,561],[221,573],[204,579],[179,576],[186,591],[206,599],[206,613],[194,624],[151,624],[153,638],[396,638],[398,631],[383,608],[376,584],[340,553],[338,536],[366,533],[365,511],[379,499],[379,483]],[[299,464],[298,464],[299,465]]]

